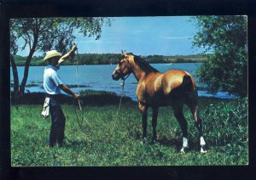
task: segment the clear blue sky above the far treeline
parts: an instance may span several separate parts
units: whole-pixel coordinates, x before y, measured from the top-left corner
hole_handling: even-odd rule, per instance
[[[125,50],[137,55],[189,55],[203,50],[192,48],[197,30],[195,21],[189,21],[189,16],[110,19],[111,26],[102,27],[99,40],[74,33],[79,53],[121,53]],[[27,50],[18,54],[25,53]]]

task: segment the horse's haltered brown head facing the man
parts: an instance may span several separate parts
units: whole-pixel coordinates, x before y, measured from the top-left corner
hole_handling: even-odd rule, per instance
[[[119,60],[118,65],[113,70],[112,78],[118,81],[120,78],[125,78],[126,75],[131,74],[131,63],[129,61],[130,55],[122,51],[122,58]]]

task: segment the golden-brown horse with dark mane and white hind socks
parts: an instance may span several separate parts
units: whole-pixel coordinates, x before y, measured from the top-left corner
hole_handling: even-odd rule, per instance
[[[158,109],[160,106],[170,105],[183,132],[183,148],[188,149],[188,123],[183,115],[183,104],[187,104],[191,110],[195,126],[200,135],[201,153],[206,153],[205,140],[202,134],[202,120],[199,116],[197,89],[195,81],[188,72],[183,70],[168,70],[162,74],[155,70],[144,59],[122,51],[117,67],[113,70],[113,80],[118,81],[126,75],[133,75],[137,79],[138,107],[143,115],[143,139],[147,136],[148,107],[153,110],[152,141],[156,140],[156,125]]]

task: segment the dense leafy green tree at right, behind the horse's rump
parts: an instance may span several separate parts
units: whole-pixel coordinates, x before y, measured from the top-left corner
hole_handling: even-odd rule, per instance
[[[211,93],[247,96],[246,16],[197,16],[193,45],[205,48],[207,60],[198,70]]]

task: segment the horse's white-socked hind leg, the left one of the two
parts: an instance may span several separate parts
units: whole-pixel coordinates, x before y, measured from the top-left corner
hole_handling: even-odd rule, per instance
[[[183,132],[183,148],[180,151],[184,153],[186,149],[189,148],[189,144],[188,144],[188,122],[186,121],[183,115],[183,104],[177,103],[172,105],[172,110]]]

